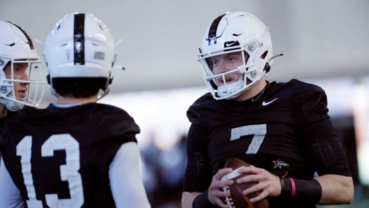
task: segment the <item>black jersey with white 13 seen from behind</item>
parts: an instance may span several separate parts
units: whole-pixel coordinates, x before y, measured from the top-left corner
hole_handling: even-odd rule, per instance
[[[115,207],[109,166],[138,133],[127,112],[110,105],[26,107],[8,119],[1,151],[32,207]]]

